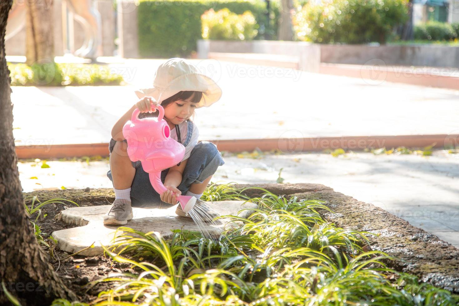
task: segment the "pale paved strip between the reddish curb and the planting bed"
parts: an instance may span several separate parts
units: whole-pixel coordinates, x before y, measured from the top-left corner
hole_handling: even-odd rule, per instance
[[[260,159],[224,154],[213,182],[316,183],[379,206],[459,248],[459,154],[433,156],[348,153],[265,155]],[[108,161],[19,162],[24,191],[112,188]],[[34,167],[32,167],[34,166]],[[31,178],[31,177],[36,177]]]

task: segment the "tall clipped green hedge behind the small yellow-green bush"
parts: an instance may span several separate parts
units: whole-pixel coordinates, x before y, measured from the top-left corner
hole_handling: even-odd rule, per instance
[[[201,15],[228,8],[236,14],[251,11],[258,31],[254,39],[277,38],[279,2],[270,1],[270,25],[267,33],[267,9],[263,0],[141,0],[138,8],[139,54],[141,57],[187,57],[196,51],[202,39]]]

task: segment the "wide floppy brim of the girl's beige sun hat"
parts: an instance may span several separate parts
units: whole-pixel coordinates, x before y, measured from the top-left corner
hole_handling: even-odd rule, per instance
[[[168,87],[165,89],[159,87],[145,88],[135,90],[135,94],[139,97],[139,99],[150,96],[155,100],[162,102],[180,91],[202,92],[202,98],[196,104],[196,108],[209,107],[220,100],[222,96],[222,89],[213,81],[213,79],[201,73],[183,74],[174,78],[174,80],[169,83]]]

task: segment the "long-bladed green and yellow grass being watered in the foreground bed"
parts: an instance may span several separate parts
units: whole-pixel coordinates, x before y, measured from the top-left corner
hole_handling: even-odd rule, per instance
[[[218,188],[217,188],[218,187]],[[218,199],[246,199],[257,208],[232,218],[217,239],[174,230],[157,232],[121,227],[113,260],[135,273],[91,282],[110,282],[93,305],[456,305],[459,297],[412,275],[397,273],[386,253],[364,251],[371,233],[327,222],[318,200],[287,199],[265,191],[248,199],[231,184],[209,186]],[[219,195],[218,195],[219,194]],[[53,305],[70,305],[64,304]]]

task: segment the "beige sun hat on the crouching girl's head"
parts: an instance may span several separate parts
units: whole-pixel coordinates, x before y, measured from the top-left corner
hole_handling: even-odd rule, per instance
[[[158,103],[179,91],[202,91],[202,99],[196,108],[211,106],[222,96],[222,89],[207,75],[184,58],[174,57],[162,63],[155,72],[153,87],[135,90],[142,99],[153,97]],[[161,100],[160,100],[161,99]]]

